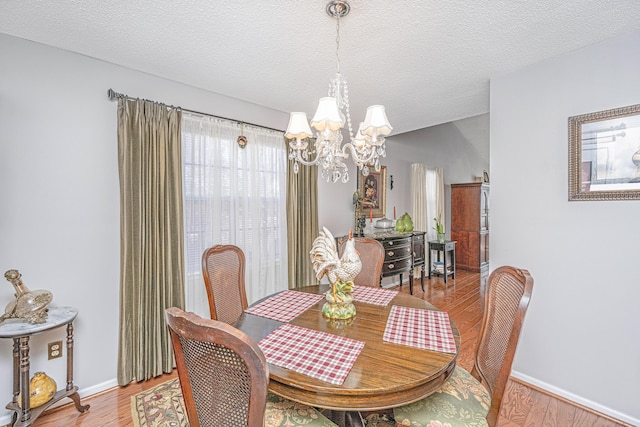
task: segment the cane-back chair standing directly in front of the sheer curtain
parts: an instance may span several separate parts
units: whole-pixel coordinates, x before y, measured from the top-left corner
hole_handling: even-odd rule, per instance
[[[202,277],[213,320],[233,325],[247,308],[244,252],[233,245],[216,245],[202,254]]]

